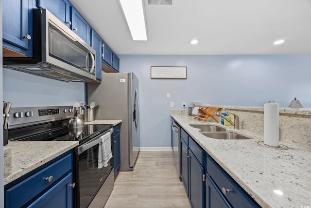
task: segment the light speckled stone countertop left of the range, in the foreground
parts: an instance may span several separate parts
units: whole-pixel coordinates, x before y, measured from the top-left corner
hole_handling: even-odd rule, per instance
[[[78,141],[8,142],[5,147],[11,148],[12,151],[12,160],[9,164],[11,165],[11,174],[4,178],[4,185],[78,145]]]

